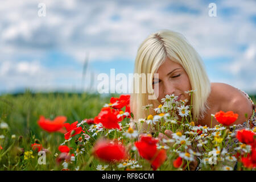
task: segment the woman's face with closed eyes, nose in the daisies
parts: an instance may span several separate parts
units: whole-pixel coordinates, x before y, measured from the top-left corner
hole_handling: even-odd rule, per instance
[[[185,69],[180,64],[167,58],[156,73],[158,77],[154,77],[153,86],[159,102],[167,94],[178,96],[178,100],[190,100],[190,96],[185,91],[192,90],[191,84]],[[158,90],[155,89],[156,86]]]

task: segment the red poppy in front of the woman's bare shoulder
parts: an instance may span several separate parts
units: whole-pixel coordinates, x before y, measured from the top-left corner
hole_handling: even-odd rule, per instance
[[[224,113],[224,111],[219,111],[214,117],[222,125],[229,126],[237,120],[238,114],[234,114],[233,111],[228,111],[226,113]]]

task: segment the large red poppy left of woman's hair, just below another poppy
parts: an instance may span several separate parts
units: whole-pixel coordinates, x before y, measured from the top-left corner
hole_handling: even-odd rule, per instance
[[[119,111],[110,107],[103,107],[100,113],[94,118],[94,123],[102,123],[106,129],[120,129],[118,122],[122,121],[122,117],[117,118]]]

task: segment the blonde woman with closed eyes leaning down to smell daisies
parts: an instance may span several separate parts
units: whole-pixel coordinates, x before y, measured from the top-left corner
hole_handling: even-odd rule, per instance
[[[134,72],[158,73],[155,77],[151,75],[147,82],[152,84],[146,85],[146,90],[154,89],[157,96],[155,100],[149,100],[148,93],[139,92],[131,96],[134,121],[148,114],[154,115],[153,109],[147,113],[142,106],[152,104],[156,108],[162,104],[161,98],[166,94],[174,94],[179,100],[187,99],[190,104],[191,96],[185,91],[195,90],[192,116],[196,125],[210,127],[211,114],[231,110],[238,114],[238,119],[232,124],[237,125],[236,129],[256,126],[254,104],[249,96],[228,84],[210,83],[200,56],[184,36],[177,32],[164,30],[148,36],[138,49]],[[142,90],[142,82],[135,84],[134,88]],[[213,118],[212,127],[217,124]],[[143,123],[143,129],[147,129],[146,122]],[[151,132],[154,132],[152,128]],[[172,132],[166,131],[165,134],[171,137]],[[166,136],[159,134],[159,138],[162,137]]]

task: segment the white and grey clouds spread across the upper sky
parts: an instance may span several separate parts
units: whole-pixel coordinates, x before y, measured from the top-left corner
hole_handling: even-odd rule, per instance
[[[38,4],[41,2],[46,4],[46,17],[40,18]],[[15,74],[27,75],[28,79],[28,75],[46,73],[48,69],[42,71],[40,59],[33,64],[20,62],[15,68],[6,60],[15,61],[23,55],[35,60],[34,55],[43,56],[51,49],[65,52],[81,63],[85,52],[89,52],[90,61],[134,60],[146,36],[160,29],[170,29],[181,32],[204,59],[236,58],[232,69],[227,71],[249,85],[250,78],[242,73],[247,67],[255,68],[255,47],[251,46],[256,40],[255,24],[249,19],[255,15],[255,4],[255,1],[217,1],[217,17],[211,18],[204,1],[3,1],[0,7],[0,75],[3,78],[16,70]],[[197,10],[198,14],[164,10],[175,5]],[[222,9],[233,11],[225,15]],[[245,53],[240,50],[241,46],[250,49]],[[44,83],[51,82],[55,76],[52,72],[47,74],[48,81]],[[24,81],[20,77],[12,79],[13,82],[15,79]],[[230,82],[234,84],[234,80]],[[238,86],[246,88],[243,84]]]

